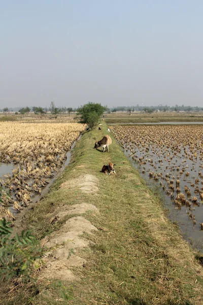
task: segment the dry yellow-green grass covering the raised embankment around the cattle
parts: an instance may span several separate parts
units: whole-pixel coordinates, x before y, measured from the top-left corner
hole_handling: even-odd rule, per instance
[[[77,250],[86,263],[69,268],[78,278],[72,282],[74,298],[64,301],[56,287],[41,281],[40,293],[32,296],[31,304],[202,304],[202,265],[177,226],[167,220],[158,198],[144,185],[114,139],[109,154],[93,149],[95,140],[106,131],[104,124],[101,131],[82,136],[70,166],[29,215],[27,226],[42,238],[53,236],[70,219],[69,215],[54,220],[67,206],[84,202],[99,209],[83,215],[98,230],[86,233],[83,238],[89,246]],[[100,172],[109,161],[116,164],[116,175]],[[71,187],[85,174],[98,179],[98,191],[85,193],[79,185]],[[70,188],[59,188],[64,182]],[[18,293],[17,299],[15,304],[27,304],[29,298]]]

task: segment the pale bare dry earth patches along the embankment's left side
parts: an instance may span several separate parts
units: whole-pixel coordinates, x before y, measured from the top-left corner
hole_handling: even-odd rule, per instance
[[[60,188],[79,187],[84,193],[98,191],[98,179],[93,175],[85,174],[76,179],[64,182]],[[66,215],[82,215],[86,211],[98,212],[98,209],[85,202],[74,205],[63,205],[58,207],[57,219],[62,219]],[[45,266],[42,267],[39,279],[58,279],[58,280],[77,280],[76,275],[69,268],[71,266],[82,266],[86,261],[77,255],[77,250],[88,247],[88,240],[82,238],[83,233],[93,234],[97,228],[94,227],[83,216],[72,217],[67,220],[61,228],[52,233],[52,237],[45,236],[42,245],[48,249],[43,261]],[[74,253],[73,253],[74,252]],[[71,254],[72,253],[72,254]],[[71,256],[70,256],[71,254]]]

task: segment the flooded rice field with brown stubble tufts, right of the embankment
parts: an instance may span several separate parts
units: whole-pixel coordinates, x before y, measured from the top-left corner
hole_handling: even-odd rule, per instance
[[[113,126],[149,186],[159,186],[168,216],[203,250],[203,125]]]

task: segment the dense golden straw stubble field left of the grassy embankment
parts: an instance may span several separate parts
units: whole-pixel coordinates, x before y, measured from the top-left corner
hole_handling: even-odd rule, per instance
[[[0,219],[12,220],[8,206],[19,212],[40,195],[66,160],[66,153],[85,130],[78,123],[0,123],[0,162],[13,164],[0,180]],[[1,167],[0,167],[1,173]]]

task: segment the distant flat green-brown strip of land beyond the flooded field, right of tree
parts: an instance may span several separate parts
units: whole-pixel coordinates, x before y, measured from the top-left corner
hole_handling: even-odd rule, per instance
[[[202,113],[116,113],[105,115],[108,124],[116,123],[161,123],[161,122],[203,122]]]

